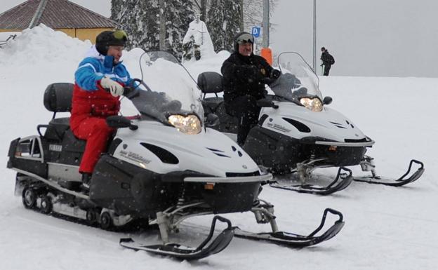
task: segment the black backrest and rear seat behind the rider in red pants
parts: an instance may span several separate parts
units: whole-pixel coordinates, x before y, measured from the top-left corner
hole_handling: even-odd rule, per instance
[[[39,133],[39,128],[46,128],[46,133],[44,133],[46,139],[62,140],[65,131],[70,128],[69,117],[55,118],[55,115],[57,112],[70,112],[73,88],[72,83],[52,83],[44,91],[44,107],[49,112],[53,112],[53,118],[48,125],[38,126]]]

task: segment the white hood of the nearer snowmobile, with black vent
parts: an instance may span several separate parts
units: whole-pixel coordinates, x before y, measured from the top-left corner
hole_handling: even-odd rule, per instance
[[[134,123],[137,130],[117,131],[117,137],[124,141],[115,149],[114,156],[135,166],[155,173],[191,170],[216,177],[259,172],[257,164],[239,145],[211,128],[186,135],[156,121]]]

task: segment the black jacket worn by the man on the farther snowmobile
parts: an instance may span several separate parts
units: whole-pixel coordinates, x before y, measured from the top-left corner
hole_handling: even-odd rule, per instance
[[[272,67],[261,56],[232,53],[230,58],[223,62],[220,72],[223,74],[225,102],[241,95],[251,95],[259,100],[265,96],[263,79],[271,77]]]

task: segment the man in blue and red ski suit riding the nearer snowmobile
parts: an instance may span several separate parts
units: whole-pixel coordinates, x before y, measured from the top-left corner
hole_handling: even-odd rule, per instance
[[[114,132],[105,119],[119,114],[119,96],[132,82],[120,61],[126,41],[125,32],[120,30],[100,33],[74,74],[70,128],[76,137],[87,141],[79,166],[84,189],[88,189],[94,166]]]

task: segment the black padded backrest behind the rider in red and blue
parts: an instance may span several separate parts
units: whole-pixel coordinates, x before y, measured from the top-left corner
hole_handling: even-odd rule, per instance
[[[50,112],[70,112],[72,109],[72,83],[52,83],[44,92],[44,107]]]

